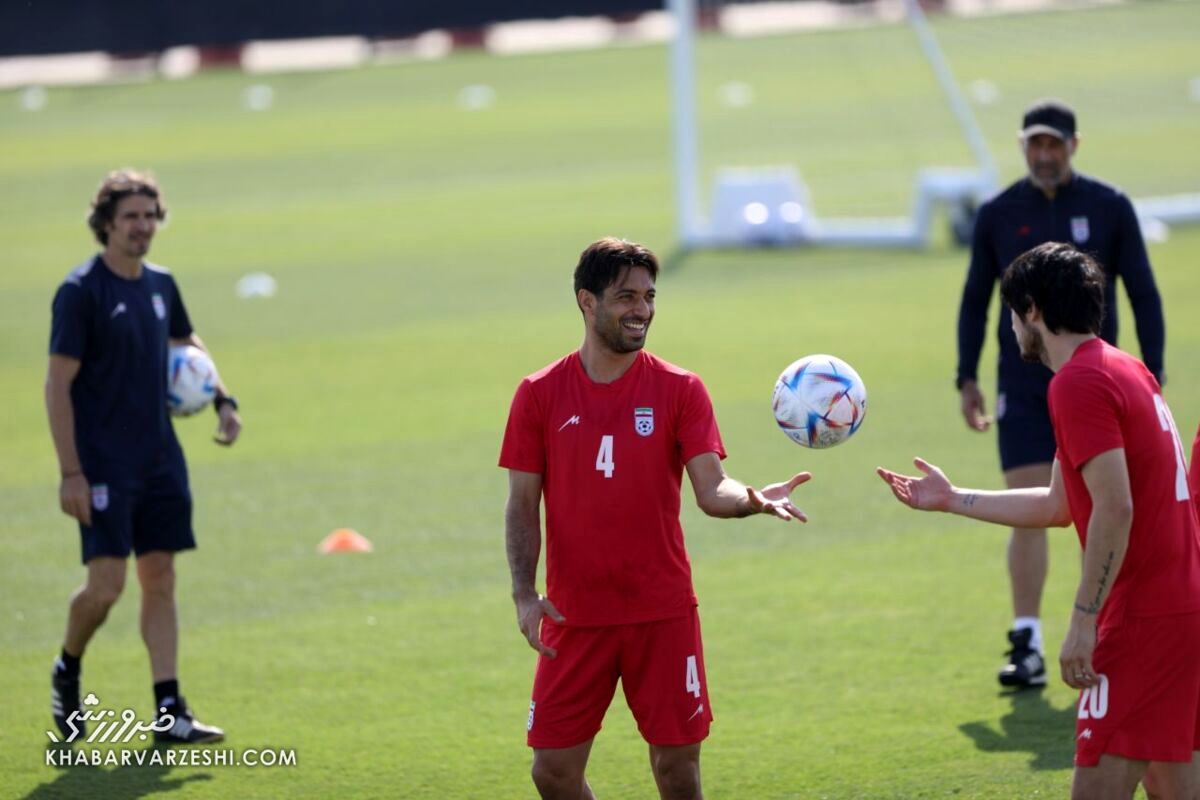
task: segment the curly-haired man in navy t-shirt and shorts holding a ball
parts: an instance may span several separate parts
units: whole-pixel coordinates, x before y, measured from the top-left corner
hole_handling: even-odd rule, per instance
[[[79,662],[125,588],[131,551],[156,716],[160,724],[174,721],[155,739],[190,744],[224,736],[191,712],[175,668],[174,558],[196,540],[187,465],[167,411],[167,354],[172,345],[204,344],[170,272],[143,260],[166,216],[151,178],[110,173],[88,217],[103,251],[74,269],[54,296],[46,410],[62,477],[59,504],[79,521],[88,570],[71,597],[50,678],[54,722],[65,739],[86,736],[84,724],[71,720],[80,708]],[[215,440],[232,445],[241,420],[223,385],[215,408]]]

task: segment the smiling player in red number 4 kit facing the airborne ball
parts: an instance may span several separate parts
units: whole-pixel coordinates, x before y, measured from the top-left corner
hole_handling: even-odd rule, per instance
[[[539,652],[527,742],[542,798],[594,798],[592,742],[620,679],[662,798],[698,800],[713,720],[700,618],[679,524],[684,469],[713,517],[805,522],[790,495],[808,473],[762,491],[725,474],[700,378],[642,348],[659,264],[601,239],[575,269],[580,349],[517,387],[500,467],[517,625]],[[546,506],[546,594],[535,578]]]

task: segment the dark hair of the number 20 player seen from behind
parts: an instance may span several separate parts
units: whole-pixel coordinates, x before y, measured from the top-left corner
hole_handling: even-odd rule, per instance
[[[1018,255],[1000,282],[1004,302],[1024,320],[1038,307],[1052,333],[1099,333],[1104,270],[1070,245],[1046,242]]]

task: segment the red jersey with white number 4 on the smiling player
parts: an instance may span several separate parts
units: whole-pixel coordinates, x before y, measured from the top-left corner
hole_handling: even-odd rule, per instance
[[[566,625],[625,625],[696,604],[679,524],[692,457],[725,458],[700,378],[642,350],[611,384],[578,353],[517,387],[500,467],[542,476],[546,596]]]

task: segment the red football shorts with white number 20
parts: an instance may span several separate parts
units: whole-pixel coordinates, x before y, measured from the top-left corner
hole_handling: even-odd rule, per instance
[[[1096,766],[1104,753],[1192,760],[1200,750],[1200,612],[1103,628],[1092,666],[1100,684],[1079,696],[1076,766]]]

